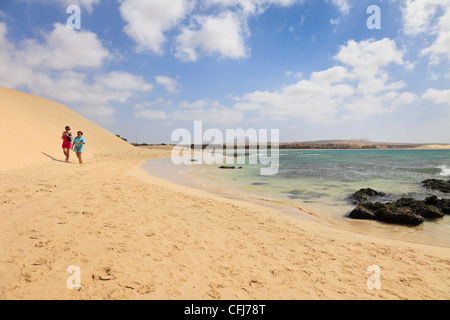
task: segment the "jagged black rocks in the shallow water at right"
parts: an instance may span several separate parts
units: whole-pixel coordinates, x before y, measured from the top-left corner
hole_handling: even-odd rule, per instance
[[[430,180],[426,180],[430,181]],[[430,182],[424,181],[427,185]],[[441,181],[441,180],[436,180]],[[446,181],[443,181],[448,183]],[[444,184],[431,182],[433,186],[442,189]],[[444,189],[445,190],[445,189]],[[444,191],[442,191],[444,192]],[[425,200],[401,198],[395,202],[370,202],[368,199],[375,196],[384,196],[382,192],[373,189],[361,189],[349,197],[358,206],[348,215],[353,219],[377,220],[388,223],[417,226],[425,219],[439,219],[450,214],[450,199],[439,199],[431,196]]]

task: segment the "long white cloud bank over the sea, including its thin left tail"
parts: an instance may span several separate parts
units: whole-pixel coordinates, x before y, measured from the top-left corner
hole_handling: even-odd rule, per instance
[[[415,94],[404,90],[406,84],[393,80],[389,72],[391,65],[408,68],[403,56],[391,39],[350,40],[333,57],[337,65],[312,72],[309,77],[302,76],[277,90],[258,90],[231,97],[235,100],[231,107],[201,99],[181,102],[171,112],[153,105],[140,106],[135,116],[220,124],[239,123],[249,114],[254,119],[277,121],[359,120],[390,113],[417,100]]]

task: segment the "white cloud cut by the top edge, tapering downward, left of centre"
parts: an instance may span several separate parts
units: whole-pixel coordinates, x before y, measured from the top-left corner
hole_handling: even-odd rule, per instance
[[[192,0],[124,0],[120,14],[125,33],[137,44],[137,50],[163,54],[165,32],[176,27],[190,12]]]

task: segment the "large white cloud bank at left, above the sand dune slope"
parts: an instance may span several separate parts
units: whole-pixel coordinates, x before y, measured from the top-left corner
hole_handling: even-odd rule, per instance
[[[113,122],[112,102],[126,102],[137,92],[152,89],[142,77],[98,70],[111,58],[94,33],[55,24],[43,41],[7,39],[0,23],[0,85],[56,100],[99,122]],[[89,47],[89,50],[85,50]]]

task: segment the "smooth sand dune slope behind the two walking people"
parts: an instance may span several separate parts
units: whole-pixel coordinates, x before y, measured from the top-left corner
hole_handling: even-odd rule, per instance
[[[59,103],[0,88],[0,170],[64,160],[61,133],[69,125],[86,139],[85,158],[94,154],[129,151],[128,143]],[[75,154],[72,155],[75,160]]]

